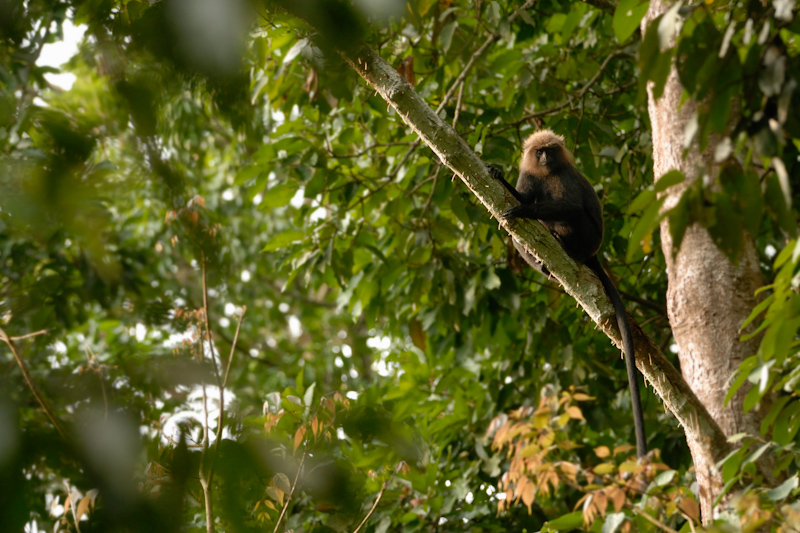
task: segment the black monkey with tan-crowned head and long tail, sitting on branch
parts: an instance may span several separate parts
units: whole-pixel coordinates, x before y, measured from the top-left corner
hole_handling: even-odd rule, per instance
[[[600,199],[589,181],[575,168],[574,161],[564,146],[564,137],[550,130],[540,130],[528,137],[522,147],[516,189],[496,169],[491,169],[491,174],[519,202],[519,205],[503,213],[505,219],[538,220],[561,243],[567,255],[588,266],[600,278],[614,305],[622,335],[633,406],[636,451],[642,457],[647,453],[647,446],[631,327],[619,292],[597,259],[597,251],[603,243],[603,208]],[[548,273],[541,262],[516,241],[514,247],[528,264],[540,272]]]

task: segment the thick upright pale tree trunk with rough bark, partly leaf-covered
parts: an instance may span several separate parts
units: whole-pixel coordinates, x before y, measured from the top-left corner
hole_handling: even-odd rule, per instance
[[[642,21],[644,31],[649,21],[667,11],[669,6],[653,0]],[[713,145],[700,152],[695,143],[684,154],[684,130],[698,104],[688,100],[681,104],[683,87],[673,65],[664,88],[656,100],[652,83],[648,86],[648,111],[653,132],[653,171],[658,181],[672,169],[683,172],[686,180],[670,187],[664,209],[674,207],[691,183],[716,172]],[[744,390],[729,405],[724,405],[731,375],[739,364],[758,350],[758,339],[739,342],[744,320],[756,304],[755,291],[764,284],[755,247],[748,235],[738,264],[733,264],[698,225],[686,230],[679,251],[673,255],[669,220],[661,222],[662,250],[667,263],[667,313],[678,359],[686,382],[719,424],[726,435],[740,432],[758,434],[761,414],[742,409]],[[743,388],[744,389],[744,388]],[[700,485],[703,520],[714,517],[713,503],[723,486],[716,462],[721,450],[709,448],[686,433]]]

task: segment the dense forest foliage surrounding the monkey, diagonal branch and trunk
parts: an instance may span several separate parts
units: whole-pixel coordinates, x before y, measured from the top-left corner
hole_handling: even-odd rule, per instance
[[[659,217],[733,260],[749,234],[775,284],[734,386],[777,396],[775,442],[725,475],[747,524],[796,524],[795,3],[675,4],[644,41],[637,0],[354,5],[319,9],[487,163],[566,136],[665,350]],[[67,19],[62,90],[37,58]],[[699,527],[681,429],[644,391],[660,452],[635,464],[618,350],[333,44],[269,2],[0,1],[0,529]],[[664,215],[646,84],[673,60],[706,102],[687,146],[724,165]]]

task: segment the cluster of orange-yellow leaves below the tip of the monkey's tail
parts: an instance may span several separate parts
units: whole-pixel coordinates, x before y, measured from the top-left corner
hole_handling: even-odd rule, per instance
[[[657,462],[657,452],[646,464],[630,454],[630,445],[613,452],[606,445],[596,446],[587,456],[567,427],[585,422],[577,403],[594,398],[575,391],[553,392],[542,391],[536,408],[521,407],[492,421],[492,448],[505,450],[509,459],[499,482],[505,495],[498,501],[499,511],[521,501],[530,512],[538,502],[546,516],[558,517],[548,520],[542,531],[674,530],[699,522],[700,506],[686,479]],[[613,512],[608,512],[609,506]]]

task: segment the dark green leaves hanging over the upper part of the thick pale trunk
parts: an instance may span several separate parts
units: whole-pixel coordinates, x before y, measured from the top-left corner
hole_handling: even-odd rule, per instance
[[[631,3],[636,2],[620,3],[618,10]],[[666,212],[658,191],[643,193],[635,203],[642,218],[634,236],[649,235],[669,217],[677,251],[686,229],[700,224],[732,261],[746,234],[761,240],[766,232],[796,236],[791,207],[800,175],[800,120],[791,110],[800,105],[800,19],[795,15],[792,4],[781,1],[719,9],[676,3],[649,23],[639,49],[640,90],[652,82],[653,94],[661,95],[674,62],[684,99],[699,102],[684,147],[712,150],[719,166],[702,169],[706,177],[686,187],[679,204]],[[673,171],[662,177],[659,190],[682,181]]]

